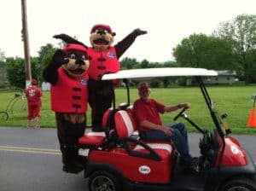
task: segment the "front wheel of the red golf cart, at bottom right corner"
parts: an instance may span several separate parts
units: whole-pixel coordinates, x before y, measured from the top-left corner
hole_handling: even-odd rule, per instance
[[[256,190],[256,183],[252,180],[241,177],[225,182],[219,191],[254,191]]]

